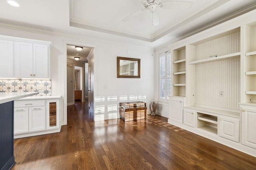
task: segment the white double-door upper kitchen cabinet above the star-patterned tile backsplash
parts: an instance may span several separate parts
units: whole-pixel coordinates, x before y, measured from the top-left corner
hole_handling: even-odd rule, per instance
[[[49,45],[14,42],[16,78],[49,78]]]

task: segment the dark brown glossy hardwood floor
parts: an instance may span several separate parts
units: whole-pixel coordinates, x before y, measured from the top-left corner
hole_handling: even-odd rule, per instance
[[[255,170],[256,157],[148,115],[93,121],[87,103],[68,106],[60,133],[14,140],[13,170]]]

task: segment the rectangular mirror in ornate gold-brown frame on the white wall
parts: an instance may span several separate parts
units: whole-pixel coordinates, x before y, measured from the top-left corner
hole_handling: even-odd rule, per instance
[[[117,57],[117,78],[140,78],[140,59]]]

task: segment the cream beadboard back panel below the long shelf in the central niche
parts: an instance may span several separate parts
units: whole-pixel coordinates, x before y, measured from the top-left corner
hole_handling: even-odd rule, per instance
[[[239,110],[240,58],[196,66],[196,104]],[[220,96],[220,91],[223,96]]]

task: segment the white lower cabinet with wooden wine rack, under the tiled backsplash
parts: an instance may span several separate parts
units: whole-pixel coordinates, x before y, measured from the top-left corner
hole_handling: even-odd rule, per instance
[[[59,132],[59,109],[59,99],[14,101],[14,138]]]

